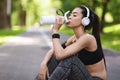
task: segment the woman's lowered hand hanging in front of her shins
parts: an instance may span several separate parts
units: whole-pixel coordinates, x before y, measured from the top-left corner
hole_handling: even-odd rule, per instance
[[[41,63],[40,72],[38,75],[39,80],[46,80],[46,76],[49,78],[49,71],[46,64]]]

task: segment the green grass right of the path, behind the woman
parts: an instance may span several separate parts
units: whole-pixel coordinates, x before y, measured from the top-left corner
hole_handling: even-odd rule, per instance
[[[101,43],[103,48],[120,52],[120,24],[106,26],[105,34],[101,34]],[[61,33],[72,35],[72,30],[63,27]]]

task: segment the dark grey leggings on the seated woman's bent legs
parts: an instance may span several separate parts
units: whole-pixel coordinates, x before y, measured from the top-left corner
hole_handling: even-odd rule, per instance
[[[60,62],[53,56],[48,63],[48,69],[50,78],[47,80],[103,80],[91,76],[77,56],[66,58]]]

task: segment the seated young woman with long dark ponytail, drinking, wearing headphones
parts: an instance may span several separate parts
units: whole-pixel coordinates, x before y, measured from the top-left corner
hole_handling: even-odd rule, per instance
[[[39,80],[45,80],[46,75],[49,80],[106,80],[98,16],[85,6],[76,7],[67,22],[74,35],[61,45],[59,29],[63,23],[58,16],[52,28],[53,49],[41,63]],[[87,33],[91,28],[92,34]]]

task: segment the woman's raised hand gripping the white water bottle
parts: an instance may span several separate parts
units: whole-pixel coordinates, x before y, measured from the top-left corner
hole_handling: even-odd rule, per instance
[[[62,24],[64,23],[64,17],[63,16],[56,16],[56,22],[55,24],[52,26],[52,33],[58,33],[60,27],[62,26]]]

